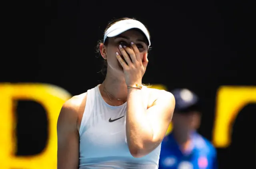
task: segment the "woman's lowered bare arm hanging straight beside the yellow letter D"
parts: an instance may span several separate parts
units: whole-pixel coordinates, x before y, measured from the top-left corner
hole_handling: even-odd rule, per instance
[[[78,169],[79,134],[76,125],[78,112],[72,99],[62,106],[58,117],[58,169]]]

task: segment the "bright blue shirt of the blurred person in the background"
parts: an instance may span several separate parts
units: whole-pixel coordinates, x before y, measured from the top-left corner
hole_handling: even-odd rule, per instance
[[[162,141],[159,169],[217,169],[216,149],[200,134],[191,134],[190,150],[182,153],[173,134]]]

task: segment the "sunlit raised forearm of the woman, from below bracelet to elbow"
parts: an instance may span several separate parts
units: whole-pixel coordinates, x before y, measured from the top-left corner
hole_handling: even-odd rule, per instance
[[[153,139],[153,130],[146,117],[143,91],[138,88],[128,88],[126,137],[129,149],[134,153],[149,148],[148,143]]]

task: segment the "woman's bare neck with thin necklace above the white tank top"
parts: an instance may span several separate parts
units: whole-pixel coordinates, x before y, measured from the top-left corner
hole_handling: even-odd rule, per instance
[[[118,76],[118,74],[116,73]],[[114,76],[107,72],[106,79],[104,80],[104,87],[106,91],[115,98],[126,99],[127,97],[127,85],[123,76]],[[122,77],[122,78],[120,78]]]

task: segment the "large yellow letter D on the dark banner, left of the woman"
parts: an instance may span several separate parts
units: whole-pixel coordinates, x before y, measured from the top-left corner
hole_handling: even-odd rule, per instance
[[[57,131],[60,109],[71,95],[64,89],[44,84],[0,84],[0,168],[1,169],[56,169]],[[30,157],[16,157],[14,138],[15,114],[13,100],[33,100],[41,104],[47,113],[49,140],[44,151]],[[32,126],[31,126],[32,127]]]

